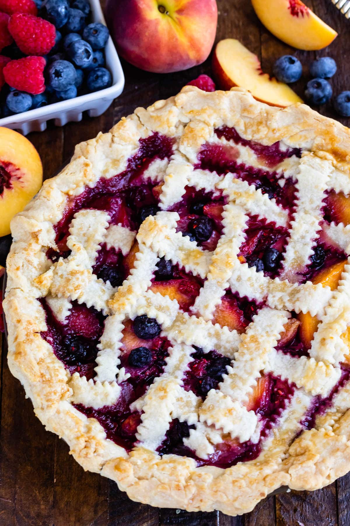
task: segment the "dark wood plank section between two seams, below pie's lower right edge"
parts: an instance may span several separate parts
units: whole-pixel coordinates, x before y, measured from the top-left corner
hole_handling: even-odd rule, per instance
[[[337,526],[335,484],[277,495],[276,518],[276,526]]]

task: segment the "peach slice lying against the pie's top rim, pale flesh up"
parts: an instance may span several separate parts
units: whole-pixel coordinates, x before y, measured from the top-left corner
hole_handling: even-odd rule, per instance
[[[222,89],[248,89],[257,100],[270,106],[303,102],[293,90],[261,70],[259,58],[235,38],[221,40],[213,55],[213,73]]]

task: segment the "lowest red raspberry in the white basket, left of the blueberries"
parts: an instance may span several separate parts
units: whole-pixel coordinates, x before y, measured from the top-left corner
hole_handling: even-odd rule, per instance
[[[5,81],[21,92],[38,95],[45,92],[44,57],[24,57],[11,60],[3,69]]]

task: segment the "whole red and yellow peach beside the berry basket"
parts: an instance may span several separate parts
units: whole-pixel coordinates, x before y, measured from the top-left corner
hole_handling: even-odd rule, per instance
[[[154,73],[201,64],[216,34],[215,0],[107,0],[105,15],[119,54]]]

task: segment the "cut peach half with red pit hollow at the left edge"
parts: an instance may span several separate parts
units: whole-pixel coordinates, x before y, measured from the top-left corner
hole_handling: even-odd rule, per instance
[[[0,237],[10,233],[10,221],[43,184],[38,152],[17,131],[0,127]]]

